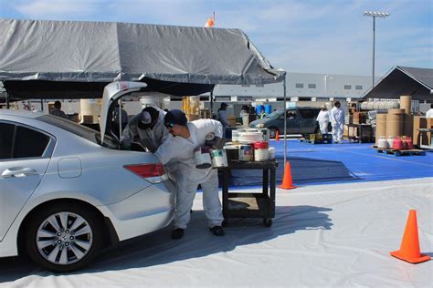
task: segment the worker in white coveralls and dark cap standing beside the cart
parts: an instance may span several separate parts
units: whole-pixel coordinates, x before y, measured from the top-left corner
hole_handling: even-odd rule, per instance
[[[154,155],[161,160],[164,166],[166,164],[170,166],[176,179],[176,211],[172,238],[180,239],[184,236],[198,185],[201,185],[203,190],[203,208],[209,230],[216,236],[223,236],[224,230],[221,223],[224,219],[218,197],[217,170],[211,167],[196,168],[194,157],[195,148],[206,144],[206,135],[214,133],[216,138],[221,138],[221,123],[212,119],[187,122],[185,113],[174,109],[167,112],[164,124],[170,130],[171,135]]]

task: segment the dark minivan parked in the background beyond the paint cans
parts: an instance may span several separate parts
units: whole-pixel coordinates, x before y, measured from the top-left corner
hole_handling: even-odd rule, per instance
[[[314,133],[316,129],[316,118],[320,108],[288,108],[287,109],[287,134],[306,134]],[[330,125],[331,126],[331,125]],[[267,128],[270,130],[270,138],[275,138],[279,131],[284,134],[284,109],[278,109],[255,121],[249,123],[249,128]],[[330,127],[328,127],[331,130]]]

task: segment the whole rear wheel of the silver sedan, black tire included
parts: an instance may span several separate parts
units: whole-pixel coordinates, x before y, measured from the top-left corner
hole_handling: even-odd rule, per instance
[[[102,225],[85,205],[62,202],[45,206],[26,227],[26,251],[34,262],[54,273],[78,270],[100,252]]]

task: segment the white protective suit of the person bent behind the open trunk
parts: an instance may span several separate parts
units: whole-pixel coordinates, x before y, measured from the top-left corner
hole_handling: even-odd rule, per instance
[[[151,152],[155,152],[165,139],[170,135],[168,129],[164,126],[165,112],[160,108],[155,108],[159,112],[158,119],[153,126],[153,129],[140,129],[138,124],[140,121],[140,114],[131,118],[128,125],[121,133],[121,144],[125,149],[131,149],[131,143],[135,136],[139,136],[140,142],[144,147]]]

